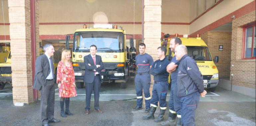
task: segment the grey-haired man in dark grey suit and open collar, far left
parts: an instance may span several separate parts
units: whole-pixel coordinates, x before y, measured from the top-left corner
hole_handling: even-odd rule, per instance
[[[54,66],[51,56],[54,54],[52,44],[45,44],[45,54],[36,60],[36,72],[33,89],[39,90],[41,94],[41,121],[43,126],[49,123],[60,122],[54,118]]]

